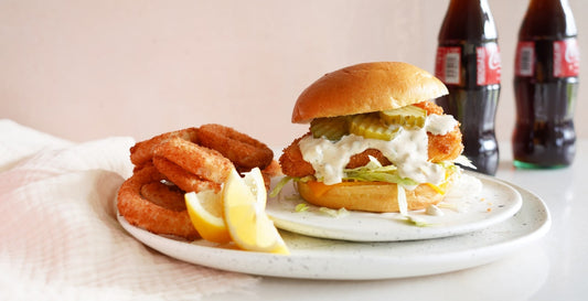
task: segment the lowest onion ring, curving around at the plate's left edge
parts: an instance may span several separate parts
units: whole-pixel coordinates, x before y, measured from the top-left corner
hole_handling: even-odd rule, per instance
[[[141,187],[161,181],[162,175],[152,166],[146,166],[127,179],[118,191],[118,212],[133,226],[154,234],[174,235],[193,240],[200,237],[190,221],[188,211],[174,211],[160,206],[141,195]]]

